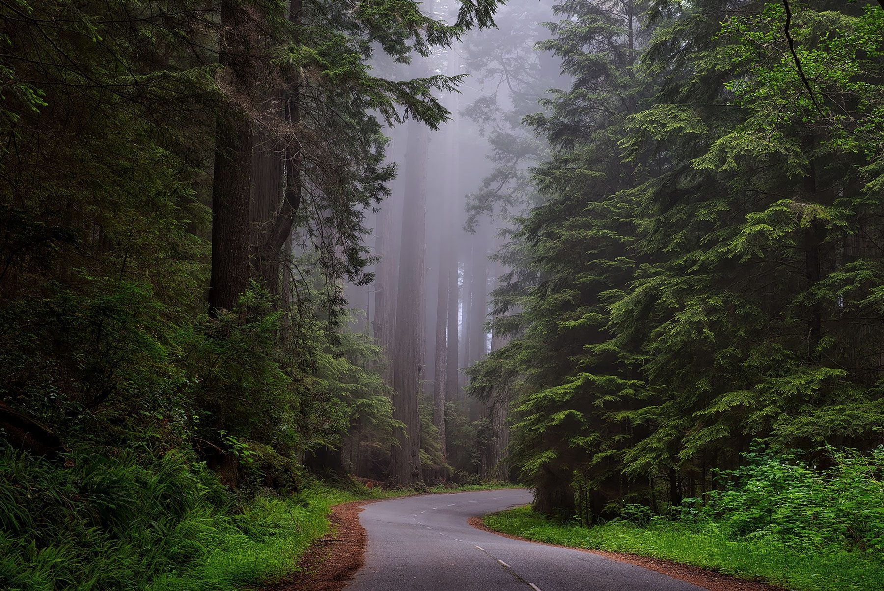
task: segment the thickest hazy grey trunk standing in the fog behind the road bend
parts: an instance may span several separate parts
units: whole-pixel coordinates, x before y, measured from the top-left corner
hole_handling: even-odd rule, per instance
[[[390,475],[401,485],[421,480],[420,383],[423,377],[423,292],[426,275],[427,128],[412,124],[406,155],[405,202],[402,206],[399,289],[396,294],[396,337],[393,343],[393,418],[406,430],[394,429]]]

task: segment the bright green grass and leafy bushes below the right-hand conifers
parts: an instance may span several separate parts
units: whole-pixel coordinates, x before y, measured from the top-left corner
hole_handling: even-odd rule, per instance
[[[756,445],[745,466],[720,473],[722,490],[685,499],[669,517],[626,504],[621,517],[591,528],[527,507],[484,520],[539,542],[667,558],[787,588],[879,588],[884,449],[820,451],[809,464]]]

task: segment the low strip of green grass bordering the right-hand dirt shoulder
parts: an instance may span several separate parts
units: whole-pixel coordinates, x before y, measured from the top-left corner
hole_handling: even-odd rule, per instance
[[[487,527],[537,542],[626,552],[693,564],[742,579],[800,591],[880,591],[884,562],[858,551],[801,553],[771,540],[728,539],[713,522],[683,527],[661,521],[636,527],[612,521],[597,527],[557,524],[520,507],[484,517]]]

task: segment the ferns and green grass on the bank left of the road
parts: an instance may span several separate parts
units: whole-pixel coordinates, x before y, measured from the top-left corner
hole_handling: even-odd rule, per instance
[[[147,454],[147,455],[146,455]],[[0,585],[8,589],[230,589],[291,569],[323,534],[328,507],[355,496],[232,496],[192,451],[103,456],[64,467],[0,458]]]

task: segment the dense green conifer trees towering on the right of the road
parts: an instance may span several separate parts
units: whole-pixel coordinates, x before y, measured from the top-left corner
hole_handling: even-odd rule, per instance
[[[495,294],[514,338],[469,371],[514,397],[538,506],[575,493],[592,519],[697,496],[757,437],[882,424],[884,11],[632,8],[557,9],[543,46],[573,84],[526,118],[552,154]]]

